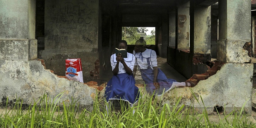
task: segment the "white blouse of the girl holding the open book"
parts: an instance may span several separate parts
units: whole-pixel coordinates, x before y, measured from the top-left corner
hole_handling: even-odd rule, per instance
[[[128,53],[127,52],[127,58],[124,58],[124,62],[126,63],[126,65],[133,71],[133,67],[134,67],[134,63],[135,63],[135,57],[132,53]],[[110,63],[112,66],[112,71],[115,69],[116,67],[116,54],[111,55],[110,57]],[[124,65],[119,62],[119,71],[117,74],[121,74],[121,73],[126,73],[125,69],[124,69]]]

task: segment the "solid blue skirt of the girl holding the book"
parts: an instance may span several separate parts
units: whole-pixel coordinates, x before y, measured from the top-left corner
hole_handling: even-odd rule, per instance
[[[135,86],[133,75],[127,73],[114,75],[106,86],[105,97],[108,100],[124,100],[135,104],[140,97],[139,88]]]

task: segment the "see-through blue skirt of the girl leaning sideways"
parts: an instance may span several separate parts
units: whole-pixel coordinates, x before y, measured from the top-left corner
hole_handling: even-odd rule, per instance
[[[158,69],[158,74],[157,74],[157,82],[159,83],[159,88],[155,89],[156,87],[153,84],[154,80],[154,71],[151,68],[147,69],[140,69],[141,77],[143,81],[146,84],[146,91],[150,94],[154,95],[162,95],[163,93],[169,91],[172,89],[172,82],[177,82],[174,79],[167,78],[164,74],[164,72],[160,69]]]

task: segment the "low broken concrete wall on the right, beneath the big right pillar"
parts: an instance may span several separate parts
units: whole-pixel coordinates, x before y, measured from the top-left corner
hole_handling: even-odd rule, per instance
[[[176,98],[182,97],[179,103],[180,106],[183,104],[187,107],[192,106],[198,112],[202,112],[204,110],[202,107],[205,106],[209,115],[216,114],[213,112],[215,106],[222,106],[223,110],[225,108],[226,114],[233,110],[239,111],[244,107],[244,112],[250,115],[252,111],[252,76],[252,63],[226,63],[215,75],[199,81],[193,88],[176,88],[166,92],[161,104],[174,105]],[[204,101],[204,105],[200,96]]]

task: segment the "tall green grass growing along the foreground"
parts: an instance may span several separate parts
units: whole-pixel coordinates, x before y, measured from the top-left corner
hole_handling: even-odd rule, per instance
[[[63,93],[51,102],[50,96],[44,94],[39,100],[22,110],[22,100],[18,100],[13,109],[5,109],[0,117],[0,128],[252,128],[256,127],[243,108],[237,112],[219,115],[220,122],[215,123],[202,104],[203,113],[199,114],[193,106],[180,105],[177,98],[175,105],[159,106],[154,96],[144,95],[129,108],[126,102],[120,101],[121,107],[113,106],[107,115],[102,106],[105,99],[93,103],[93,110],[79,108],[78,100],[71,98],[70,103],[60,101]],[[202,100],[202,97],[200,97]],[[203,101],[203,100],[202,100]],[[199,101],[198,101],[199,102]],[[6,108],[8,98],[6,102]],[[61,104],[61,106],[60,106]],[[106,103],[105,103],[106,104]],[[135,113],[132,114],[133,109]],[[219,114],[219,113],[218,113]],[[231,118],[232,117],[232,118]]]

